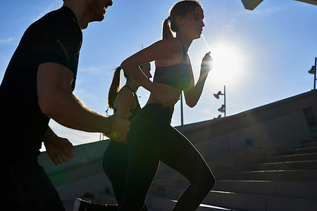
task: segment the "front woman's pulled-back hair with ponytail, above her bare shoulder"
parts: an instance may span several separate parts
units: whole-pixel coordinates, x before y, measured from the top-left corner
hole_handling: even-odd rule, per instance
[[[178,3],[176,3],[170,9],[170,16],[166,18],[166,20],[164,20],[163,22],[162,38],[168,39],[174,37],[173,32],[178,32],[178,25],[176,25],[176,17],[185,17],[187,13],[194,11],[194,8],[196,8],[197,6],[201,7],[201,4],[198,1],[178,1]]]

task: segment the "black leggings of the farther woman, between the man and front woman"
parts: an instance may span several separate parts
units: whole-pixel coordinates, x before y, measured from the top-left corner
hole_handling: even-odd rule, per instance
[[[125,182],[127,181],[128,145],[110,140],[104,152],[102,166],[111,181],[113,192],[120,205],[125,194]],[[144,205],[142,211],[147,211],[147,204]]]

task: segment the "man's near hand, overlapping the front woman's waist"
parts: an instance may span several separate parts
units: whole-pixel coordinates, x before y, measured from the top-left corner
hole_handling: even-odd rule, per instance
[[[127,133],[130,131],[128,117],[131,113],[115,113],[109,118],[112,120],[111,133],[107,136],[113,141],[127,143]]]

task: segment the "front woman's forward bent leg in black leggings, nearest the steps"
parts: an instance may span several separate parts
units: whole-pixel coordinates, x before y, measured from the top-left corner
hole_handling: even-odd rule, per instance
[[[185,136],[173,127],[165,127],[159,158],[180,172],[190,185],[182,193],[173,210],[196,210],[215,184],[215,178],[204,158]]]

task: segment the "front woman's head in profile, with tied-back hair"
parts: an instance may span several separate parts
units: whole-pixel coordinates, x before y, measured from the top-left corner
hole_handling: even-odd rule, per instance
[[[198,1],[179,1],[170,9],[170,16],[163,22],[163,39],[173,37],[173,32],[183,32],[197,39],[204,27],[203,19],[204,11]]]

